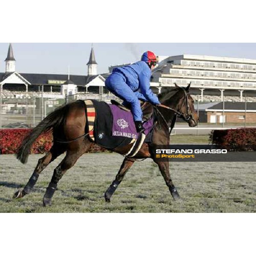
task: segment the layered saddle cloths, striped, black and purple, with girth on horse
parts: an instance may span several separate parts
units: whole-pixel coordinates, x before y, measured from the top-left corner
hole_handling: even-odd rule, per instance
[[[143,142],[151,142],[154,118],[153,106],[150,103],[143,104],[145,116],[149,116],[144,124],[145,134],[137,133],[131,111],[128,108],[124,110],[124,106],[119,103],[117,105],[122,108],[116,104],[108,105],[96,100],[85,100],[84,105],[87,113],[85,130],[89,132],[92,142],[107,149],[131,144],[131,149],[124,154],[126,157],[135,156]]]

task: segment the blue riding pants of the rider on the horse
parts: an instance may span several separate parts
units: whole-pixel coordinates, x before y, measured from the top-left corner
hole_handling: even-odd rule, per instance
[[[105,80],[105,86],[111,93],[124,101],[124,105],[131,104],[131,113],[134,116],[134,121],[142,121],[142,111],[140,108],[139,98],[141,93],[131,90],[128,84],[125,83],[125,77],[119,73],[112,73]],[[143,97],[144,98],[144,97]]]

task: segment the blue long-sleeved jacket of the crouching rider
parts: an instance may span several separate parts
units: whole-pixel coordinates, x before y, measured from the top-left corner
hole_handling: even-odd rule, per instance
[[[138,61],[129,66],[116,67],[112,73],[121,73],[126,80],[125,83],[139,99],[144,99],[152,104],[160,104],[157,96],[150,89],[151,70],[145,61]]]

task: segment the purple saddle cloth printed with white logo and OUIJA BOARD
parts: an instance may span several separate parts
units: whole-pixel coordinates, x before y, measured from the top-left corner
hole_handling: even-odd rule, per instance
[[[132,113],[124,111],[116,105],[110,104],[109,107],[113,116],[112,136],[137,139],[139,133],[136,131]],[[153,121],[154,120],[151,117],[151,119],[143,123],[143,127],[145,128],[145,135],[151,131],[151,128],[153,127]]]

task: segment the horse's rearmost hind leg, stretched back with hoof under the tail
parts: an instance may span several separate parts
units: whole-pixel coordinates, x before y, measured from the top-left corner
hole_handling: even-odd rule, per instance
[[[23,196],[29,194],[35,186],[35,183],[37,182],[40,173],[49,165],[49,163],[54,161],[59,155],[63,154],[64,152],[65,149],[60,145],[53,145],[50,151],[47,152],[47,154],[44,157],[38,160],[38,164],[24,189],[15,192],[13,197],[22,198]]]

